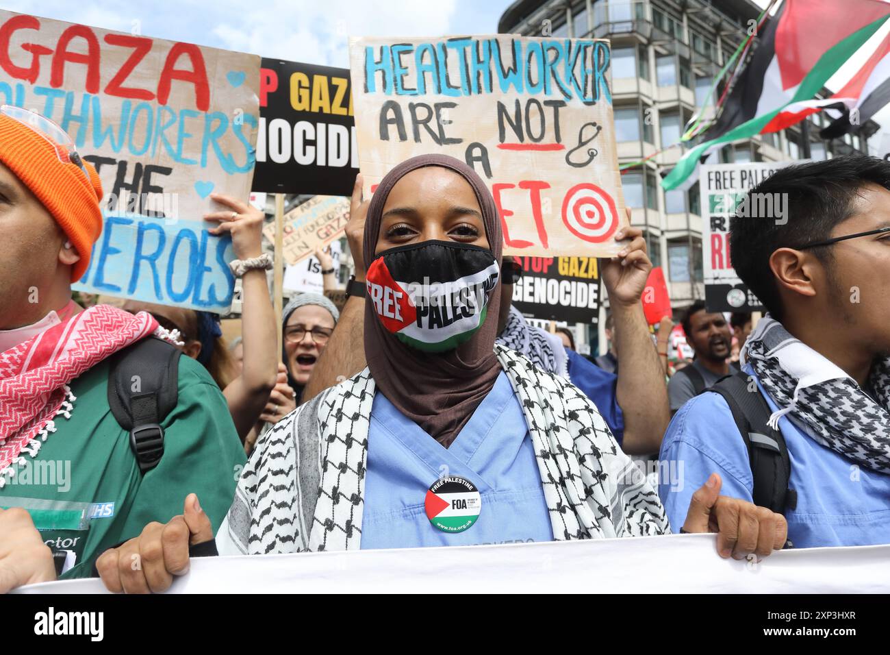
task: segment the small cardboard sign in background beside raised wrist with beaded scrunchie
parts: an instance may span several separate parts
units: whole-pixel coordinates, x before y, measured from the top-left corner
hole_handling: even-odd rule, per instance
[[[294,265],[340,236],[349,221],[350,201],[340,196],[317,195],[297,205],[284,217],[284,260]],[[263,227],[275,239],[275,225]]]

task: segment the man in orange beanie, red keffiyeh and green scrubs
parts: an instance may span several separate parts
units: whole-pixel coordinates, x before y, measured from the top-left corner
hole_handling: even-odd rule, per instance
[[[202,507],[190,512],[219,525],[232,471],[245,462],[222,392],[202,365],[147,339],[171,336],[153,316],[71,299],[101,234],[101,198],[99,177],[61,127],[0,107],[0,507],[30,514],[63,577],[92,575],[101,553],[181,513],[196,486]],[[147,345],[174,363],[148,398],[135,393],[140,375],[122,389],[113,374]],[[41,512],[48,506],[58,512]],[[31,543],[28,521],[17,525]],[[0,568],[10,539],[0,532]],[[18,580],[38,579],[22,567],[45,571],[43,557],[12,563]]]

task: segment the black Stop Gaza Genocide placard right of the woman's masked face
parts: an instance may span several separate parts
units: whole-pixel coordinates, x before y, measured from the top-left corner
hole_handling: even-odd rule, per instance
[[[523,315],[567,323],[597,323],[600,273],[595,257],[514,257],[522,277],[513,304]]]

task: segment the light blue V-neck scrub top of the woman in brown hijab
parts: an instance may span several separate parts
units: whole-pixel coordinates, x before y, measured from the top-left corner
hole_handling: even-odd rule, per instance
[[[479,519],[446,533],[426,518],[426,491],[460,476],[481,495]],[[362,548],[552,541],[544,488],[522,406],[506,373],[449,448],[441,446],[377,391],[368,429]]]

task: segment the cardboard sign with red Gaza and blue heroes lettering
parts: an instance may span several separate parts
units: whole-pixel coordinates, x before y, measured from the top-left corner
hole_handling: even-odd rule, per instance
[[[231,238],[202,219],[247,201],[260,58],[0,11],[0,103],[58,123],[101,176],[79,291],[228,311]]]

